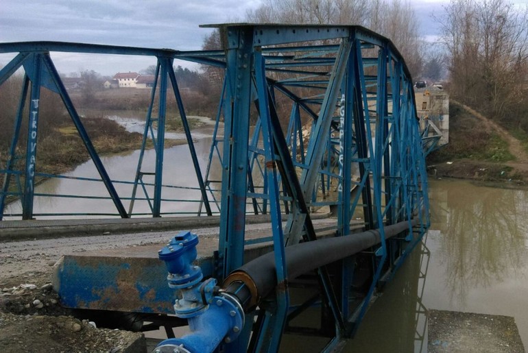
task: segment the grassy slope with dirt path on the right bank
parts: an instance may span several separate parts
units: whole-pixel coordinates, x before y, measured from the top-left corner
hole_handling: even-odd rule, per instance
[[[523,185],[528,181],[525,145],[503,127],[451,101],[449,143],[427,158],[437,178],[463,178]]]

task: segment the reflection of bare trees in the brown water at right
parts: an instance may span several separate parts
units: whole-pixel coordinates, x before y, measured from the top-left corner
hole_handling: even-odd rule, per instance
[[[525,266],[527,192],[466,182],[430,186],[431,229],[441,232],[435,256],[450,301],[466,306],[469,289],[517,277]]]

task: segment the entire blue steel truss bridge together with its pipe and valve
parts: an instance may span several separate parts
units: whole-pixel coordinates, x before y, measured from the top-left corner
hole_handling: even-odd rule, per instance
[[[182,232],[159,251],[162,261],[155,258],[167,265],[163,271],[165,276],[169,271],[168,286],[165,276],[163,288],[149,282],[148,273],[129,278],[136,288],[158,294],[127,293],[138,300],[123,311],[137,315],[176,311],[178,319],[165,324],[189,321],[191,326],[191,334],[167,339],[156,352],[276,352],[288,332],[328,337],[323,351],[332,352],[353,336],[372,300],[427,231],[424,154],[440,136],[420,132],[411,75],[396,47],[379,34],[346,25],[214,27],[223,44],[217,51],[64,42],[0,44],[0,53],[13,54],[0,71],[0,84],[23,69],[19,105],[12,112],[12,141],[0,170],[0,218],[7,216],[10,197],[21,200],[22,211],[9,216],[23,220],[218,217],[217,247],[208,260],[200,260],[198,252],[202,268],[193,265],[197,236]],[[130,180],[110,178],[51,59],[53,52],[156,59],[143,143]],[[224,77],[206,163],[197,156],[174,60],[200,63]],[[98,182],[105,196],[42,194],[35,188],[38,177],[64,178],[39,173],[42,88],[62,101],[97,169],[97,178],[76,178],[79,190],[83,182]],[[178,112],[177,118],[170,109]],[[180,185],[178,175],[163,173],[164,165],[178,164],[164,158],[167,119],[182,121],[192,185]],[[22,131],[24,124],[27,130]],[[147,167],[143,158],[148,149],[154,150],[154,162]],[[213,165],[219,166],[219,176],[212,176]],[[178,194],[189,190],[195,195],[192,199]],[[115,212],[47,215],[45,210],[34,212],[38,197],[95,198],[111,202]],[[182,202],[189,205],[184,212],[170,211],[171,204]],[[148,211],[136,211],[140,204]],[[331,213],[331,225],[324,229],[313,223],[313,212],[321,209]],[[252,215],[269,217],[269,234],[248,236],[246,220]],[[245,254],[255,246],[270,252],[247,261]],[[71,261],[58,274],[64,304],[112,309],[92,305],[104,302],[93,293],[105,288],[80,293],[83,289],[77,284],[86,271],[80,262]],[[96,275],[113,276],[105,273]],[[107,279],[100,285],[122,295],[119,280]],[[90,283],[97,287],[96,282]],[[302,287],[300,283],[313,295],[298,302],[292,293]],[[320,317],[317,328],[292,324],[314,307]]]

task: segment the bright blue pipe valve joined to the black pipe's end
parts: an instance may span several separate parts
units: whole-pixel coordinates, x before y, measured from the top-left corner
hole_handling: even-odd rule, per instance
[[[197,243],[196,234],[184,231],[158,252],[169,271],[169,287],[178,290],[176,316],[189,321],[191,333],[162,341],[154,352],[213,352],[222,341],[237,339],[243,328],[244,313],[237,297],[217,293],[214,278],[201,282],[202,269],[193,265]]]

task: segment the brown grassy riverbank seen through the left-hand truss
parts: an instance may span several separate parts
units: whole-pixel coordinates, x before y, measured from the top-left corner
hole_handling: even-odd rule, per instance
[[[141,148],[145,130],[145,113],[136,110],[80,110],[82,124],[90,138],[91,144],[99,157],[116,156]],[[121,118],[124,116],[125,118]],[[205,130],[214,125],[208,117],[188,117],[191,130]],[[134,128],[130,129],[130,125]],[[153,124],[154,130],[156,124]],[[179,117],[167,119],[165,126],[165,148],[187,144]],[[153,149],[152,139],[148,138],[146,149]],[[88,150],[80,138],[71,119],[61,117],[48,127],[39,137],[36,156],[35,184],[40,185],[49,179],[49,175],[62,175],[91,160]],[[0,160],[5,165],[5,160]],[[16,163],[12,170],[23,166]],[[23,184],[23,175],[21,175]],[[16,183],[11,182],[10,191],[16,193]],[[7,203],[17,199],[7,197]]]

